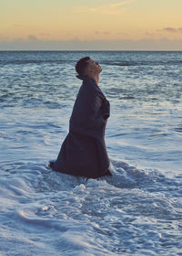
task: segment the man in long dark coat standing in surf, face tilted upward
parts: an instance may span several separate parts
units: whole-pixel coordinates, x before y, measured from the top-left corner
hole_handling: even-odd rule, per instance
[[[83,80],[69,121],[69,133],[56,162],[50,166],[57,172],[96,178],[112,176],[108,167],[105,129],[109,117],[109,101],[98,87],[102,68],[89,57],[76,63],[76,76]]]

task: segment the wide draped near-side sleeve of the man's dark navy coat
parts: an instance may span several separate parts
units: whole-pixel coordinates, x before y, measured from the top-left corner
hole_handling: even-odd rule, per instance
[[[92,84],[87,84],[78,93],[72,116],[70,129],[77,133],[100,137],[106,119],[103,115],[105,97]]]

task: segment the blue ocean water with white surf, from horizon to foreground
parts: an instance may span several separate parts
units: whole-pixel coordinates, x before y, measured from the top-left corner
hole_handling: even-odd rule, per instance
[[[52,172],[81,81],[103,68],[113,176]],[[182,255],[182,52],[0,52],[0,255]]]

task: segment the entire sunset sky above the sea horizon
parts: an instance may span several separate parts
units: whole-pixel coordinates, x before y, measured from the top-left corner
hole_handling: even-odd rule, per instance
[[[0,0],[0,50],[182,50],[182,0]]]

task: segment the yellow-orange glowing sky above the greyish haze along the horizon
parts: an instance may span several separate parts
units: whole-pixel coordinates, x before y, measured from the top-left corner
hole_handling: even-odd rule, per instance
[[[181,9],[179,0],[0,0],[0,41],[182,40]]]

